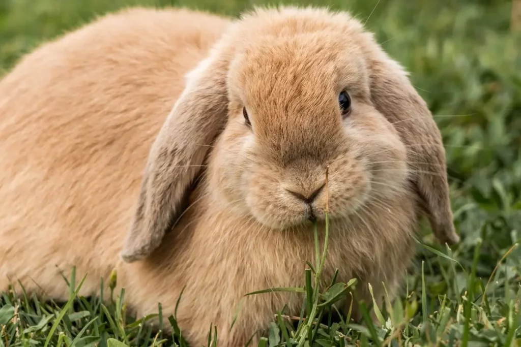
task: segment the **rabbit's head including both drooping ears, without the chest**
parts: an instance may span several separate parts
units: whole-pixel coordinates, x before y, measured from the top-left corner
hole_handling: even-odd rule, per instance
[[[124,260],[159,245],[204,172],[214,204],[271,228],[324,219],[326,207],[346,218],[413,182],[438,239],[458,240],[436,123],[344,12],[256,9],[230,24],[155,140]]]

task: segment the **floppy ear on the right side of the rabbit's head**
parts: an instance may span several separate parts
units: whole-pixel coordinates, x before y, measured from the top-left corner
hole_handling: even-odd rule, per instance
[[[445,150],[438,126],[403,68],[380,49],[372,55],[371,100],[407,146],[414,182],[434,234],[441,243],[453,245],[460,238],[452,220]]]

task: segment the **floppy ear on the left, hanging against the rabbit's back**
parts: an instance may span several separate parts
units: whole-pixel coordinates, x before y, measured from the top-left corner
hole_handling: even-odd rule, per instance
[[[228,60],[210,53],[186,76],[186,86],[152,145],[137,209],[121,257],[145,258],[183,210],[208,149],[226,123]]]

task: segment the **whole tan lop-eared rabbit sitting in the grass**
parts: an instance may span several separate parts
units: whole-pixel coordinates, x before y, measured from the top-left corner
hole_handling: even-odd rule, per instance
[[[408,73],[348,12],[256,7],[105,15],[0,82],[0,289],[66,299],[60,273],[116,269],[132,312],[163,305],[191,345],[244,345],[324,278],[394,297],[426,216],[453,245],[440,131]],[[327,182],[326,182],[327,172]],[[184,290],[183,290],[184,289]],[[234,314],[241,310],[232,329]],[[357,302],[344,298],[340,310]]]

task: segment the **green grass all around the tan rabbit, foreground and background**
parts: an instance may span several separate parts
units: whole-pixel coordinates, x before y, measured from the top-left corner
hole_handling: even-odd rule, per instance
[[[236,15],[244,0],[0,0],[0,74],[38,43],[132,4],[187,5]],[[351,10],[365,21],[377,0],[301,0]],[[317,274],[303,273],[309,299],[303,316],[280,315],[261,345],[521,345],[521,35],[509,31],[506,0],[381,0],[367,20],[389,54],[412,72],[413,84],[438,122],[447,152],[454,219],[462,236],[452,249],[428,228],[418,239],[415,266],[394,303],[367,307],[377,324],[330,318],[327,307],[345,284],[314,291]],[[324,232],[324,230],[319,230]],[[322,261],[321,255],[317,256]],[[312,261],[312,260],[310,260]],[[320,267],[314,264],[314,268]],[[66,279],[64,279],[66,280]],[[2,346],[185,345],[153,331],[147,318],[126,314],[124,292],[112,300],[79,298],[81,281],[67,279],[69,303],[0,295]],[[79,284],[77,284],[79,282]],[[259,288],[263,289],[263,288]],[[182,298],[181,298],[182,300]],[[331,302],[327,302],[331,301]],[[160,306],[158,306],[158,312]],[[334,309],[333,309],[334,311]],[[275,313],[274,313],[275,314]],[[315,318],[315,319],[313,319]],[[319,319],[320,318],[320,319]],[[318,321],[322,323],[317,325]],[[347,321],[347,322],[346,322]],[[209,341],[219,331],[210,329]],[[114,338],[110,339],[110,338]]]

